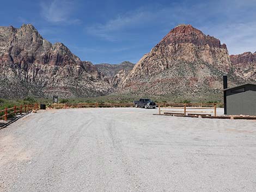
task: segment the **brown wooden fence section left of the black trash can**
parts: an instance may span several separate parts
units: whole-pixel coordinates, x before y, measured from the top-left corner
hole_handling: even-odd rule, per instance
[[[16,116],[17,114],[28,113],[28,112],[31,112],[32,110],[37,110],[37,109],[39,109],[38,103],[25,104],[21,106],[14,106],[11,108],[5,108],[3,110],[0,110],[0,114],[4,113],[4,115],[0,116],[0,119],[7,121],[8,117],[10,116]]]

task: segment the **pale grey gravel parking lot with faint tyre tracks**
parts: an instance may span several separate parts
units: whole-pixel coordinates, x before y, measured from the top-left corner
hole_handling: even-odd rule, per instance
[[[0,191],[256,191],[256,121],[62,109],[0,130]]]

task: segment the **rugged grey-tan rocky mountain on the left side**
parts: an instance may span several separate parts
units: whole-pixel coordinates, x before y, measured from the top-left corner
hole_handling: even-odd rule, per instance
[[[61,43],[52,45],[30,24],[0,27],[0,97],[87,97],[113,90],[96,67]]]

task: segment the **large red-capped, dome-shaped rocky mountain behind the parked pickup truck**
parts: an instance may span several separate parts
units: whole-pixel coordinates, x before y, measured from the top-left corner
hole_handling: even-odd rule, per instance
[[[119,91],[203,98],[222,93],[222,75],[231,68],[225,44],[182,24],[138,61]],[[231,75],[229,80],[229,85],[239,81]]]

